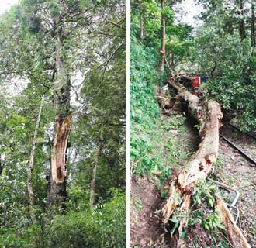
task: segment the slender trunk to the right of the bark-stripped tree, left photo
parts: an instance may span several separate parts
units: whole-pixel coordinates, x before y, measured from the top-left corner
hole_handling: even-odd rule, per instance
[[[97,167],[99,166],[100,153],[102,152],[102,145],[103,145],[103,129],[100,130],[99,143],[95,153],[95,165],[92,170],[92,181],[91,181],[91,191],[90,191],[91,207],[93,207],[95,203],[96,174],[97,174]]]

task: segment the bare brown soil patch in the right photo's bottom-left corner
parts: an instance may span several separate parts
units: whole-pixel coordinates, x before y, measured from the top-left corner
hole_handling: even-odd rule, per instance
[[[160,243],[164,230],[155,211],[161,195],[150,177],[136,177],[130,185],[130,246],[151,247]]]

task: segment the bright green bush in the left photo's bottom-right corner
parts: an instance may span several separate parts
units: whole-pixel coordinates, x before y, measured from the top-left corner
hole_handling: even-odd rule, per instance
[[[109,202],[96,205],[92,212],[58,215],[47,228],[49,247],[116,247],[126,245],[126,195],[112,190]]]

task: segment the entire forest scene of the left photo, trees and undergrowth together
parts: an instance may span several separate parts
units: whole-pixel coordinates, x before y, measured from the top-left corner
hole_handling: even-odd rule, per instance
[[[125,2],[22,0],[0,22],[0,246],[123,247]]]

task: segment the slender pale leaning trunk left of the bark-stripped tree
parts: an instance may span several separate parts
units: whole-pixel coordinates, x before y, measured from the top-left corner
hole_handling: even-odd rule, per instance
[[[36,120],[36,127],[35,127],[34,136],[33,136],[33,146],[30,151],[29,168],[28,168],[28,173],[27,173],[27,175],[28,175],[28,177],[27,177],[27,192],[28,192],[28,202],[29,202],[29,214],[31,216],[31,219],[34,219],[34,212],[33,212],[34,194],[33,194],[33,187],[32,187],[32,176],[33,176],[35,151],[36,151],[36,139],[37,139],[37,133],[38,133],[39,125],[40,125],[42,108],[43,108],[43,98],[41,100],[40,109],[39,109],[38,117]]]

